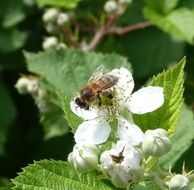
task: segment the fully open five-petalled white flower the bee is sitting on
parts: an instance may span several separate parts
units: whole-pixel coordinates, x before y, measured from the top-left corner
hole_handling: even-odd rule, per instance
[[[159,108],[164,102],[163,89],[161,87],[150,86],[131,94],[134,88],[134,81],[127,69],[123,67],[113,69],[108,75],[114,75],[118,78],[118,82],[110,88],[113,94],[110,105],[102,104],[99,106],[98,103],[94,102],[89,106],[89,110],[85,110],[76,105],[75,99],[70,103],[71,110],[85,120],[78,126],[75,133],[75,141],[76,143],[87,144],[88,136],[90,136],[90,143],[92,144],[105,142],[110,134],[108,121],[111,118],[117,118],[119,120],[118,137],[124,140],[128,139],[128,142],[132,145],[139,145],[143,140],[143,132],[138,126],[125,120],[122,117],[122,111],[127,107],[132,113],[143,114]],[[93,125],[95,127],[87,127],[88,123],[90,126]],[[102,136],[100,141],[99,136]],[[80,139],[82,139],[81,142]]]

